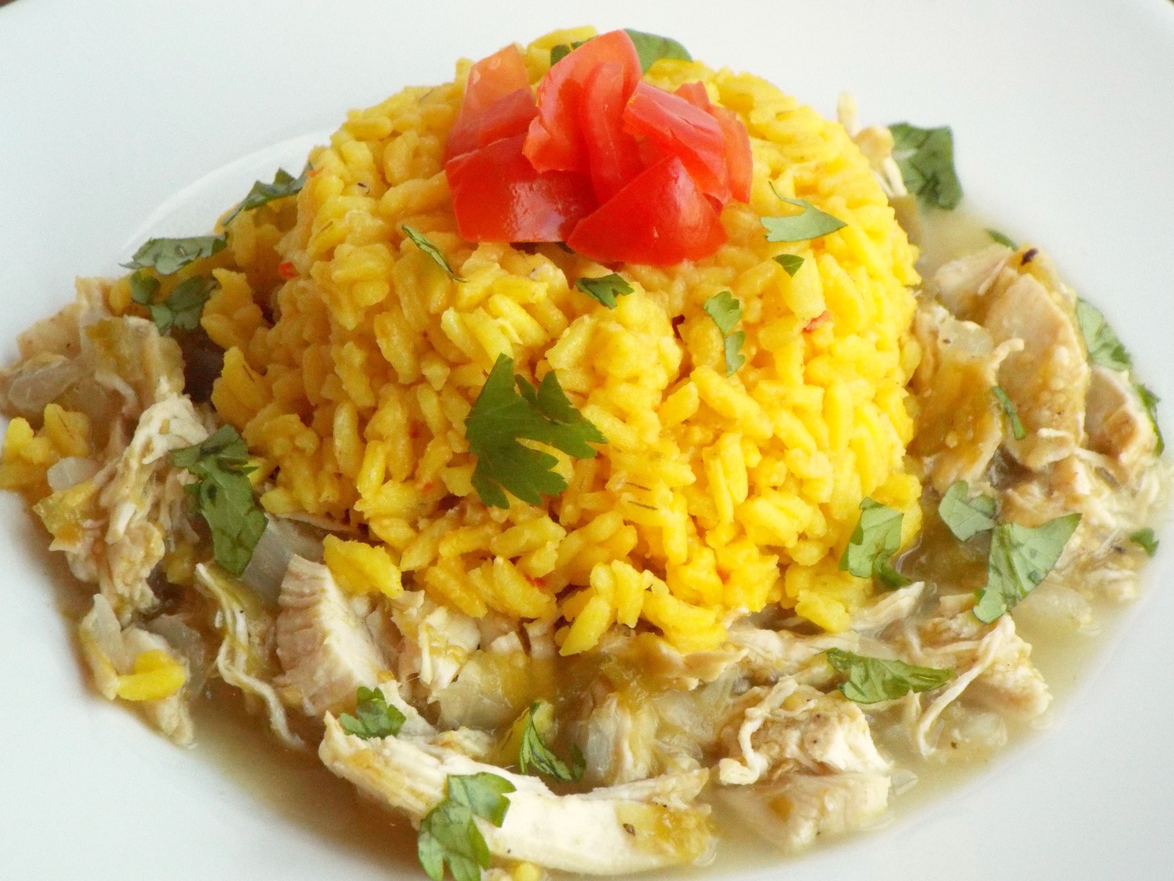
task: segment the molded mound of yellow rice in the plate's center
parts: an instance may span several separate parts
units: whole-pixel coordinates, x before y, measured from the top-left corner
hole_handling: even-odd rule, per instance
[[[527,47],[532,81],[552,46],[593,33]],[[564,654],[641,620],[682,651],[713,648],[769,603],[848,627],[872,592],[837,565],[861,500],[904,511],[906,540],[920,524],[904,470],[916,251],[868,161],[839,125],[755,76],[656,62],[650,82],[700,79],[738,113],[753,197],[727,206],[729,243],[713,257],[620,267],[635,292],[608,310],[574,288],[608,268],[457,235],[443,153],[468,63],[350,113],[311,153],[296,204],[242,211],[224,251],[164,281],[215,268],[202,323],[227,355],[212,403],[257,457],[263,506],[335,529],[326,561],[351,590],[407,583],[474,617],[558,617]],[[768,243],[760,217],[789,213],[771,183],[848,226]],[[804,258],[794,278],[782,253]],[[702,311],[727,289],[748,358],[730,377]],[[109,300],[140,314],[126,278]],[[464,421],[501,354],[532,381],[556,371],[608,439],[594,459],[547,450],[569,487],[541,506],[487,507],[470,483]]]

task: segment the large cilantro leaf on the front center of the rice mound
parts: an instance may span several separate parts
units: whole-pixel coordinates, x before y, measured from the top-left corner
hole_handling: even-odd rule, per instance
[[[473,487],[481,502],[508,507],[502,489],[522,502],[541,504],[542,495],[556,496],[567,489],[566,480],[552,469],[558,463],[549,453],[519,443],[525,438],[549,444],[568,456],[589,459],[607,438],[567,401],[552,370],[535,390],[513,375],[513,358],[499,355],[473,409],[465,419],[468,449],[477,456]]]

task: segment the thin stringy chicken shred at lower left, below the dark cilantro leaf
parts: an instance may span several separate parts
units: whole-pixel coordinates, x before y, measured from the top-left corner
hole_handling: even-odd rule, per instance
[[[264,705],[269,726],[286,746],[303,746],[302,739],[290,731],[285,707],[272,685],[279,671],[274,612],[218,566],[201,563],[196,566],[195,583],[218,607],[215,624],[222,639],[216,652],[216,672],[244,692],[247,706],[250,700]]]

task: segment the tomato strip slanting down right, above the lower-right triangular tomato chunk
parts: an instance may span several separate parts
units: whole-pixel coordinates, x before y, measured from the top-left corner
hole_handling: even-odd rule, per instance
[[[722,129],[708,113],[683,97],[641,82],[623,110],[623,127],[679,156],[702,193],[722,204],[729,201]]]

